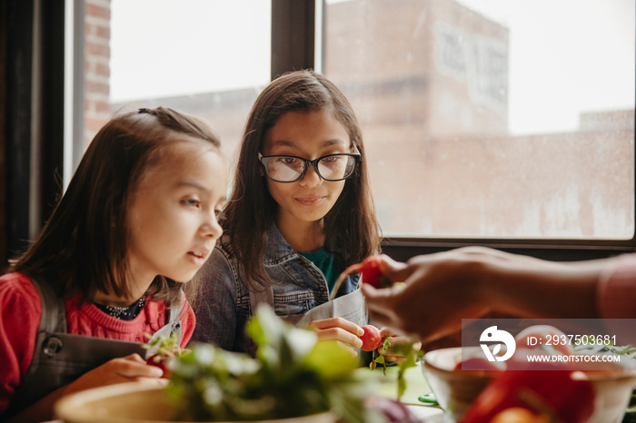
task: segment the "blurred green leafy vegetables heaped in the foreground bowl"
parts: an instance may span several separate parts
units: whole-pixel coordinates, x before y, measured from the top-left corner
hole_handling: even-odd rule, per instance
[[[353,371],[358,360],[333,341],[318,341],[259,306],[247,332],[254,358],[194,344],[174,367],[167,393],[177,419],[245,421],[331,411],[347,422],[383,421],[364,407],[372,392]]]

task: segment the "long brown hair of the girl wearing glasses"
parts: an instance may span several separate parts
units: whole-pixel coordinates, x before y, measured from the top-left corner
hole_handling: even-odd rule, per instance
[[[346,128],[362,161],[324,217],[325,250],[335,254],[342,268],[380,251],[380,225],[373,208],[363,136],[351,104],[338,87],[312,70],[283,74],[260,93],[247,118],[234,187],[221,222],[230,237],[228,248],[248,280],[258,285],[272,283],[263,266],[263,253],[266,232],[277,210],[258,162],[264,136],[283,113],[327,108],[333,109]]]

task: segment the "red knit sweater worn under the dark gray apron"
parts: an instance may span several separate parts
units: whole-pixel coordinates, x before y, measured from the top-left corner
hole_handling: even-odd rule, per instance
[[[116,319],[94,304],[78,308],[76,298],[65,300],[65,305],[66,331],[75,335],[145,343],[144,332],[152,335],[165,324],[163,301],[146,302],[134,320]],[[31,280],[21,273],[0,277],[0,415],[31,363],[41,315],[40,296]],[[194,311],[187,303],[181,320],[183,348],[194,331]]]

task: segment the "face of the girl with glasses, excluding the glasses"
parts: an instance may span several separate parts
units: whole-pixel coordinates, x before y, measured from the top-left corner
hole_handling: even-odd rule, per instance
[[[320,112],[284,113],[265,133],[261,153],[314,160],[338,152],[351,152],[351,140],[329,108]],[[267,187],[279,205],[279,226],[298,225],[321,221],[343,192],[344,181],[323,181],[310,166],[299,181],[281,183],[268,178]]]

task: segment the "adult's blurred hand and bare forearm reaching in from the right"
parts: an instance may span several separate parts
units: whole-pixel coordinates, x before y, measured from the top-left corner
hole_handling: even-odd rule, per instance
[[[561,263],[483,247],[416,256],[383,256],[383,274],[404,286],[363,286],[373,322],[428,343],[457,332],[462,319],[488,311],[527,318],[593,319],[596,290],[611,261]],[[562,299],[568,299],[563,301]]]

